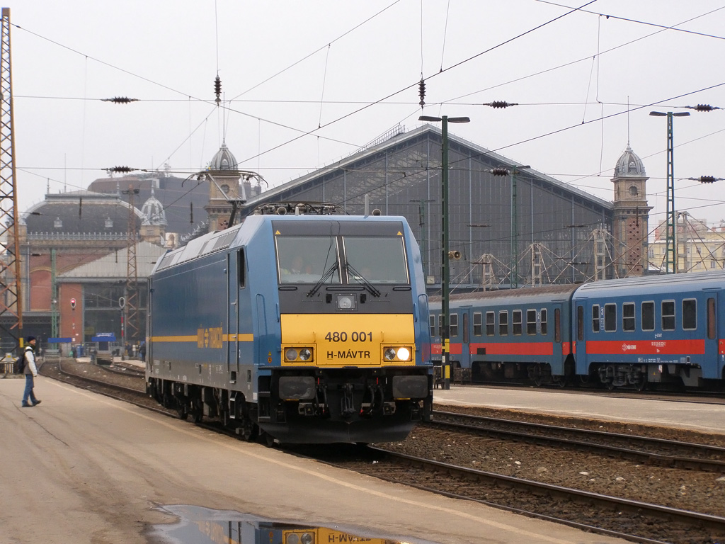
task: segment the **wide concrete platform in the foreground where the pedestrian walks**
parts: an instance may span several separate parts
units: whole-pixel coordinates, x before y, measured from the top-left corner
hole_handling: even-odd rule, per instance
[[[174,504],[413,543],[624,542],[295,458],[43,376],[43,403],[20,408],[22,387],[0,380],[3,543],[148,544],[146,524],[170,521],[152,507]]]

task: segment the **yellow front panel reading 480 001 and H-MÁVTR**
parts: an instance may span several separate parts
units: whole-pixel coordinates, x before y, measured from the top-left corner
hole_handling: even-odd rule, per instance
[[[400,313],[283,314],[283,366],[413,366],[415,329],[413,316]],[[385,347],[409,347],[407,361],[383,359]],[[311,347],[312,360],[285,360],[287,347]]]

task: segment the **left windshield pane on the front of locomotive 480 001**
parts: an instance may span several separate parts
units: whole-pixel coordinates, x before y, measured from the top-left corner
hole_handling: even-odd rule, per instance
[[[279,281],[282,284],[339,284],[334,236],[275,236]]]

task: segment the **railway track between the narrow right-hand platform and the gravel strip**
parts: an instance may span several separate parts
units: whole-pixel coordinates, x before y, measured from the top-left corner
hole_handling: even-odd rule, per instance
[[[429,425],[539,445],[596,451],[639,463],[725,473],[725,448],[721,446],[448,411],[434,411],[434,421]]]

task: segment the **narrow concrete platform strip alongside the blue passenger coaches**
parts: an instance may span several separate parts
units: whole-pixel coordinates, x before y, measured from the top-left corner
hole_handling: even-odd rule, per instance
[[[507,389],[452,385],[434,390],[434,403],[510,408],[560,416],[671,426],[725,434],[725,404],[707,400],[635,399],[576,390]]]

